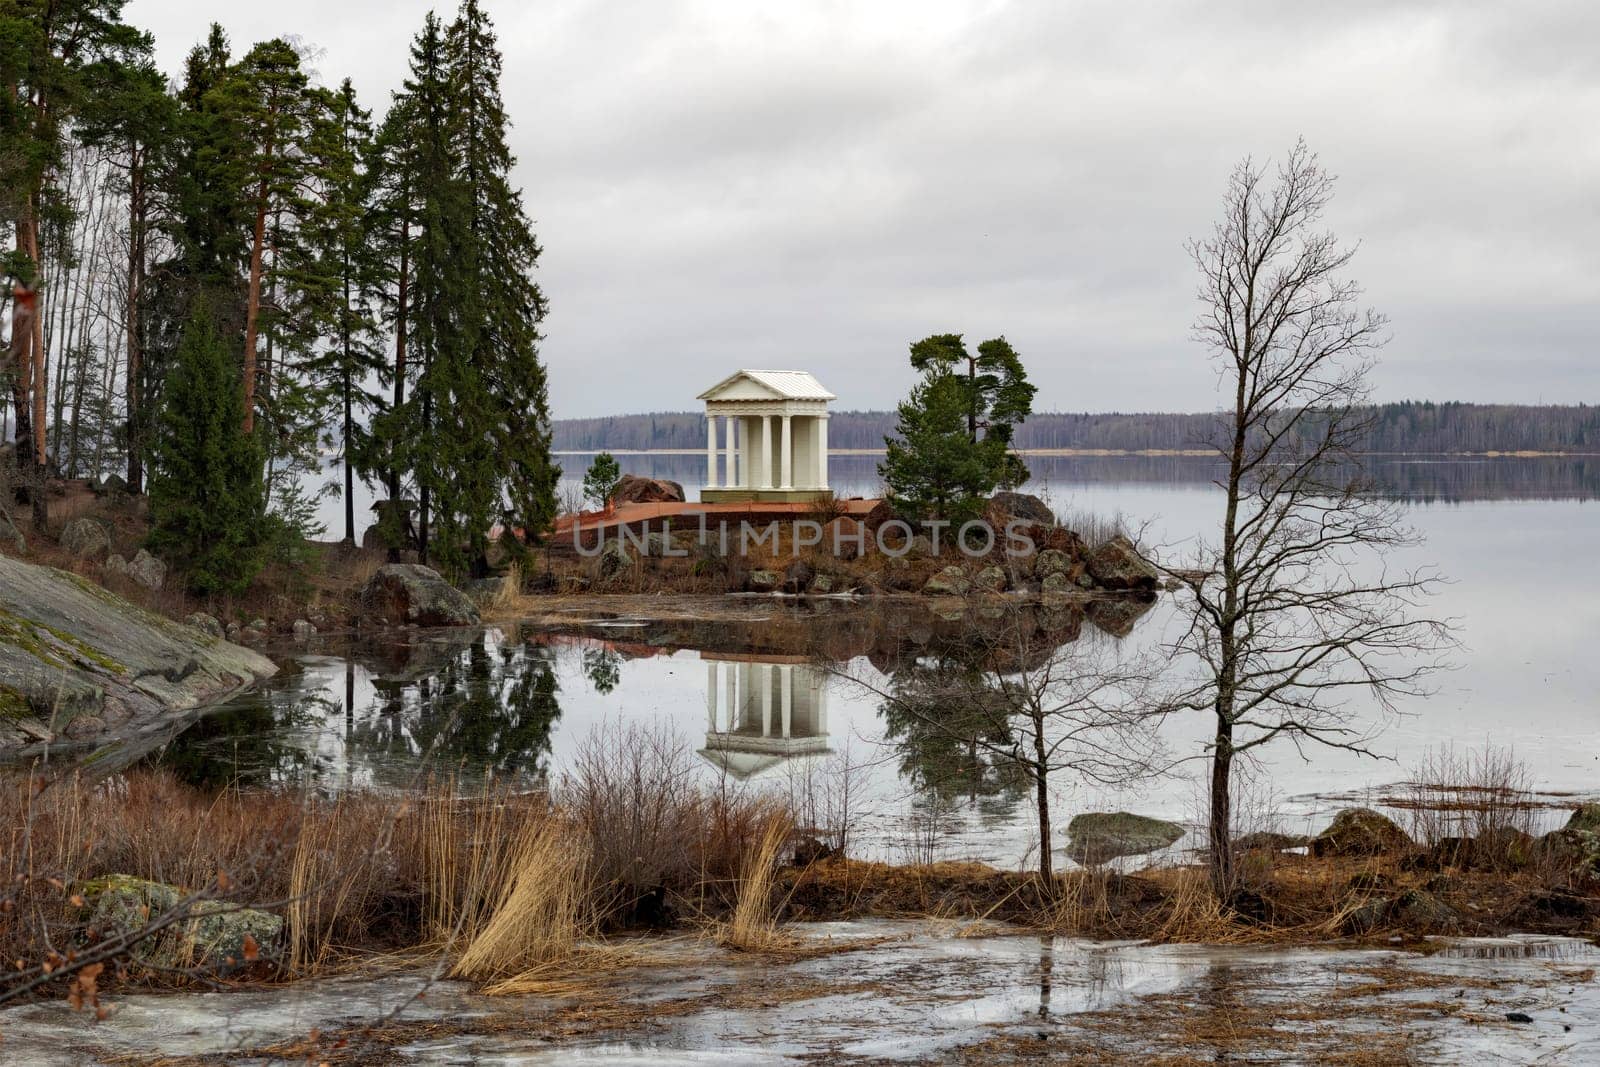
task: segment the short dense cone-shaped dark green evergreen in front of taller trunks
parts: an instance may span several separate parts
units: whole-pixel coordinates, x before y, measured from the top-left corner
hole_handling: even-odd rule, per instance
[[[240,593],[261,571],[261,456],[211,301],[190,307],[166,381],[150,470],[150,547],[200,595]]]

